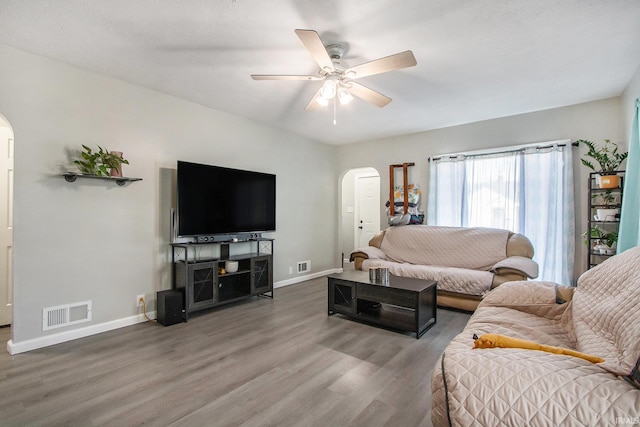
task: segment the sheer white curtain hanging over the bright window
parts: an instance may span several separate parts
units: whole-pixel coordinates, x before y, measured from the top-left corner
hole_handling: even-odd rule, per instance
[[[427,223],[524,234],[540,265],[538,280],[570,285],[575,252],[571,143],[432,159]]]

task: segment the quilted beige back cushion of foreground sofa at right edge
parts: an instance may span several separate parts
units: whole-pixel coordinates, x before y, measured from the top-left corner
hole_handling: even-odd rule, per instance
[[[635,268],[629,268],[635,266]],[[610,258],[578,280],[573,295],[577,349],[629,375],[640,357],[640,247]]]

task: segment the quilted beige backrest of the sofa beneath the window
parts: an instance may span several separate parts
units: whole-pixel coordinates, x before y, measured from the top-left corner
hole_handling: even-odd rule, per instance
[[[380,249],[400,263],[489,270],[506,258],[510,232],[490,228],[391,227]]]

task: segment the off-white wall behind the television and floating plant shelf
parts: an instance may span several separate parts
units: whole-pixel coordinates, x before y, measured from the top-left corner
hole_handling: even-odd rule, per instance
[[[277,175],[274,280],[297,261],[339,267],[335,147],[4,46],[0,93],[15,135],[14,344],[59,332],[42,331],[43,307],[92,300],[107,324],[170,288],[178,159]],[[66,183],[81,144],[123,151],[143,181]]]

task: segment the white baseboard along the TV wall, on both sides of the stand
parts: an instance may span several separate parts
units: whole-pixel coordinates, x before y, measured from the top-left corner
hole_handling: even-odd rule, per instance
[[[273,284],[274,288],[281,288],[283,286],[293,285],[296,283],[304,282],[306,280],[317,279],[318,277],[328,276],[329,274],[341,273],[342,268],[332,268],[329,270],[320,271],[313,274],[306,274],[304,276],[298,276],[293,279],[280,280]],[[150,318],[156,318],[156,312],[147,313]],[[90,335],[100,334],[102,332],[112,331],[114,329],[124,328],[125,326],[131,326],[138,323],[146,322],[147,319],[142,314],[135,316],[125,317],[123,319],[112,320],[110,322],[100,323],[98,325],[90,325],[84,328],[72,329],[70,331],[58,332],[44,337],[33,338],[26,341],[20,341],[14,343],[13,340],[7,341],[7,352],[10,355],[24,353],[31,350],[36,350],[43,347],[49,347],[51,345],[61,344],[63,342],[77,340],[79,338],[88,337]]]

